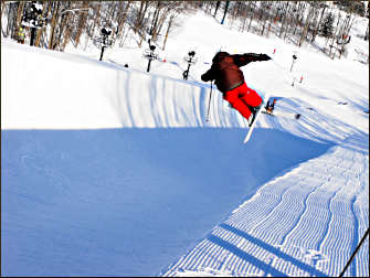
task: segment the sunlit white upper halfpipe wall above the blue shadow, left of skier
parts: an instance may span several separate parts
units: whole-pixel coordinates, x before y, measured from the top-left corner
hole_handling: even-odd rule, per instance
[[[4,129],[245,127],[216,89],[205,121],[204,84],[10,42],[1,60]]]

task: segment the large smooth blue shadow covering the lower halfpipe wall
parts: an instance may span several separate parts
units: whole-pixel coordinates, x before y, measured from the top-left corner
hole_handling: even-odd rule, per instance
[[[331,147],[269,129],[243,145],[245,132],[2,130],[2,275],[158,275],[265,182]]]

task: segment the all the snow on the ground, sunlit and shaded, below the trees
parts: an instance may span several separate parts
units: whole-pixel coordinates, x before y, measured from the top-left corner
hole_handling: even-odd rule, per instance
[[[368,53],[356,34],[350,46]],[[205,121],[200,75],[220,47],[276,49],[242,68],[277,99],[246,145],[214,87]],[[2,275],[340,274],[369,227],[368,65],[202,12],[183,15],[150,73],[135,44],[103,62],[92,45],[66,52],[1,38]],[[347,276],[369,276],[368,250],[369,238]]]

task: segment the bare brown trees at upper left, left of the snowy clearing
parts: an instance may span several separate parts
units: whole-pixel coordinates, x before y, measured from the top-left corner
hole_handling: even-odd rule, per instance
[[[1,1],[1,32],[17,40],[24,24],[24,14],[33,2]],[[112,30],[114,44],[123,46],[129,33],[141,46],[148,35],[165,49],[171,31],[179,24],[180,13],[193,11],[188,1],[39,1],[45,24],[36,28],[34,45],[64,51],[67,43],[81,46],[82,35],[88,40],[99,36],[103,28]],[[39,15],[40,17],[40,15]],[[24,26],[25,25],[25,26]],[[87,44],[88,40],[84,42]]]

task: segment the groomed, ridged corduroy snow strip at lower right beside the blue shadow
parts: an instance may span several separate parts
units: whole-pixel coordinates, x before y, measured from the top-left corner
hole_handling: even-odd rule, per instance
[[[338,276],[369,226],[368,148],[356,147],[266,183],[163,275]],[[368,248],[347,275],[369,276]]]

